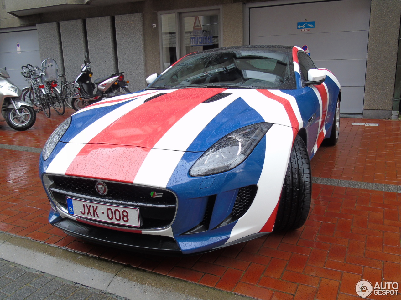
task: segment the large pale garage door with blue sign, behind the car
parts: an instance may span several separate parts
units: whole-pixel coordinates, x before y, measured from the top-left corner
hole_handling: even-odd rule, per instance
[[[249,44],[307,45],[316,66],[340,81],[341,112],[362,114],[370,0],[274,3],[249,7]]]

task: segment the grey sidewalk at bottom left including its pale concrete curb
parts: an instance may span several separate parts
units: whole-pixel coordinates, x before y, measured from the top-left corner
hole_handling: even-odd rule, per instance
[[[250,299],[2,232],[0,259],[0,300]]]

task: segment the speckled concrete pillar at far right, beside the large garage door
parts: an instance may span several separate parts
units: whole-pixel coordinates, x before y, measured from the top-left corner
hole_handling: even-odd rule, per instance
[[[364,118],[391,118],[401,0],[372,0]]]

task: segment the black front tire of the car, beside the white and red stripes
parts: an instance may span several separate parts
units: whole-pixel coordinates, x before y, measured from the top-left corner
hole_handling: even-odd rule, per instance
[[[312,195],[312,175],[308,150],[297,136],[288,162],[273,232],[294,230],[308,218]]]

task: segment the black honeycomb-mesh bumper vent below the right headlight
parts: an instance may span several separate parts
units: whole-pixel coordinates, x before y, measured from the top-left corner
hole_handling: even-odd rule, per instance
[[[240,188],[238,190],[237,199],[235,199],[231,214],[229,214],[229,216],[214,229],[230,224],[241,218],[251,206],[253,199],[255,199],[256,191],[256,185],[244,186],[243,188]]]

